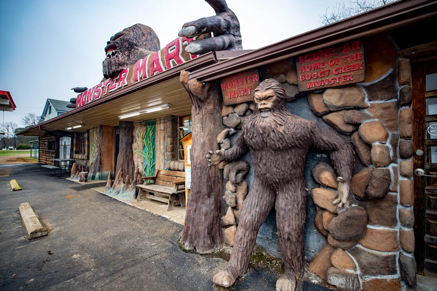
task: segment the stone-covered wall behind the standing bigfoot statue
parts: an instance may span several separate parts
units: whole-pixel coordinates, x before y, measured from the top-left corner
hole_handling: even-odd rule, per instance
[[[281,83],[292,114],[336,131],[355,152],[351,207],[339,211],[332,204],[338,185],[329,152],[309,149],[304,171],[309,269],[340,290],[400,291],[414,285],[416,276],[413,225],[406,219],[414,216],[411,68],[408,59],[398,58],[397,45],[389,36],[363,42],[365,80],[360,83],[299,92],[295,59],[257,69],[261,81],[274,78]],[[253,111],[253,102],[223,106],[227,129],[217,137],[221,149],[234,145]],[[228,181],[223,189],[222,225],[231,246],[254,175],[249,153],[237,164],[219,165]],[[243,180],[231,181],[229,171],[247,173]],[[363,211],[365,217],[358,215]],[[345,219],[350,223],[343,223]],[[279,256],[277,240],[272,209],[257,244]]]

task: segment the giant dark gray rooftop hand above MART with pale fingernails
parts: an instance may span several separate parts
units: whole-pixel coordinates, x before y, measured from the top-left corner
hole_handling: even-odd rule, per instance
[[[179,31],[179,36],[192,38],[206,32],[213,32],[213,38],[191,41],[186,52],[201,55],[207,52],[243,49],[241,45],[240,23],[236,15],[228,8],[225,0],[205,0],[216,15],[187,22]]]

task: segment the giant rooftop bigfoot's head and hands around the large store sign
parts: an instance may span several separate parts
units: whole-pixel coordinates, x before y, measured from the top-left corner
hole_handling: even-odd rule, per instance
[[[191,41],[185,50],[193,55],[222,50],[243,49],[241,45],[240,23],[236,15],[229,9],[225,0],[205,0],[215,11],[215,16],[200,18],[187,22],[178,35],[193,38],[212,32],[213,38]],[[103,80],[120,73],[139,59],[160,50],[160,40],[152,28],[143,24],[135,24],[111,36],[105,47],[106,57],[103,60]],[[86,88],[86,87],[85,87]],[[74,87],[76,93],[87,89]],[[76,108],[76,98],[71,98],[69,108]]]

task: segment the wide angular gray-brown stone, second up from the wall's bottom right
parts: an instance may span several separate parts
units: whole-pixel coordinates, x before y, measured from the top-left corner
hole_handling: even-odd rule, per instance
[[[362,246],[355,246],[347,251],[358,263],[361,275],[392,275],[397,273],[396,253],[368,251]]]

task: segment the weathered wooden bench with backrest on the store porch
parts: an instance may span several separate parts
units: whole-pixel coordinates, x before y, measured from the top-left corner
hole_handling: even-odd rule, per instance
[[[173,210],[174,205],[185,207],[185,172],[156,170],[153,177],[144,177],[144,184],[139,187],[137,201],[142,197],[166,202],[167,211]],[[152,183],[149,183],[152,180]],[[180,185],[182,185],[180,187]],[[176,197],[179,200],[176,200]]]

